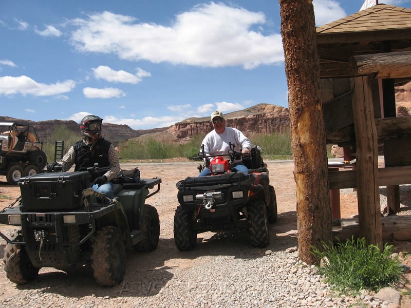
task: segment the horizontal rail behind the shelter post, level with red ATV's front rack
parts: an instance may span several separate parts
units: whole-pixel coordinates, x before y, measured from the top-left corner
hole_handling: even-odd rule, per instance
[[[411,183],[411,166],[378,168],[378,186],[403,185]],[[356,170],[328,172],[330,189],[356,188]]]

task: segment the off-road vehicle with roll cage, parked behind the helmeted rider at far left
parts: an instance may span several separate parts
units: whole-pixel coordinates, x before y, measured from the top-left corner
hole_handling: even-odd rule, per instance
[[[33,126],[21,123],[0,123],[0,175],[17,185],[24,176],[39,174],[46,166],[43,143]]]

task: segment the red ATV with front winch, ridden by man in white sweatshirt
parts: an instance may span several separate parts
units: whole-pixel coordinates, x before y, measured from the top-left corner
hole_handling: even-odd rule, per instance
[[[212,175],[188,177],[176,184],[179,206],[174,215],[174,241],[177,248],[193,249],[199,233],[230,229],[246,229],[253,246],[266,247],[270,243],[268,224],[277,219],[277,202],[260,148],[253,147],[249,156],[236,152],[231,143],[228,155],[208,156],[204,146],[201,148],[195,159],[205,163],[198,169],[201,172],[209,167]],[[249,168],[248,174],[230,169],[233,161],[241,156]]]

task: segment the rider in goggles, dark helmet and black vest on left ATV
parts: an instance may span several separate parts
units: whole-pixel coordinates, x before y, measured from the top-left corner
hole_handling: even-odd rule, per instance
[[[74,143],[59,162],[53,161],[48,164],[47,170],[51,172],[55,166],[60,165],[64,171],[67,171],[75,165],[74,171],[86,171],[95,163],[98,163],[100,168],[109,167],[110,169],[103,176],[91,178],[91,187],[106,194],[107,198],[113,199],[113,183],[110,180],[119,175],[120,160],[113,144],[101,137],[102,122],[103,119],[97,115],[86,115],[80,122],[83,140]]]

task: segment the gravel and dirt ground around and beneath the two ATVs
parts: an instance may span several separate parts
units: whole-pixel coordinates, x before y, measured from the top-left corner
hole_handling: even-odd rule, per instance
[[[290,161],[268,162],[279,213],[278,221],[270,226],[268,247],[253,248],[246,233],[233,231],[200,234],[193,251],[179,252],[173,239],[178,205],[175,183],[197,175],[196,165],[138,165],[142,178],[162,178],[159,194],[147,201],[159,212],[160,242],[153,252],[127,254],[126,274],[119,285],[97,285],[88,267],[70,273],[42,268],[36,280],[18,286],[0,271],[0,307],[388,307],[388,302],[369,294],[332,294],[316,269],[298,259]],[[0,193],[6,191],[13,200],[9,188],[0,178]],[[0,206],[9,203],[2,199]],[[1,225],[0,229],[10,231],[9,226]],[[0,244],[3,257],[5,241],[0,240]]]

